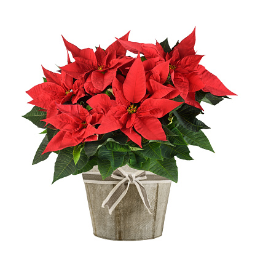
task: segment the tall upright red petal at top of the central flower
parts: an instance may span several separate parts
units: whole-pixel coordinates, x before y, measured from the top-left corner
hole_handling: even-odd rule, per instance
[[[133,103],[140,102],[146,94],[145,73],[139,54],[128,71],[127,77],[123,84],[123,91],[125,98],[127,98],[129,102]]]

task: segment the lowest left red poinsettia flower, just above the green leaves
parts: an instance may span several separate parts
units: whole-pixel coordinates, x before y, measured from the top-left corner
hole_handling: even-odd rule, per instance
[[[57,104],[61,114],[44,119],[60,130],[50,140],[44,153],[49,151],[62,150],[68,146],[76,146],[82,142],[97,140],[95,125],[101,122],[103,114],[90,114],[80,105],[60,105]]]

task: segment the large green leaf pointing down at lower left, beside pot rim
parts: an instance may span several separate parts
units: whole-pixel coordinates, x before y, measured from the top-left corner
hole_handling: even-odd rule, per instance
[[[60,150],[57,161],[55,162],[55,172],[52,184],[60,178],[73,174],[75,170],[76,165],[74,164],[73,146]]]

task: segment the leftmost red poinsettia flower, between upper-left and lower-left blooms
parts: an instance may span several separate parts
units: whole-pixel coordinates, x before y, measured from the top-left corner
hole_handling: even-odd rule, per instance
[[[64,71],[61,74],[53,73],[42,67],[47,82],[34,86],[26,93],[33,98],[30,104],[39,106],[47,110],[47,117],[58,113],[55,103],[63,104],[72,100],[76,103],[79,98],[85,96],[83,82],[76,80],[73,83],[73,78]]]

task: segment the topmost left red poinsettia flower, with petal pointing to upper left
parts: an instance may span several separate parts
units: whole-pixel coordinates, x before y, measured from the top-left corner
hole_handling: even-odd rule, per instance
[[[129,32],[122,37],[124,41],[128,39],[128,34]],[[63,40],[66,49],[72,53],[76,61],[61,67],[61,70],[77,79],[91,73],[89,82],[92,82],[93,87],[100,92],[111,84],[120,66],[133,60],[131,57],[124,56],[127,50],[119,42],[114,42],[106,50],[99,46],[96,52],[93,52],[90,48],[80,50],[65,38]],[[90,86],[90,88],[92,87]],[[90,90],[93,91],[94,88]]]

